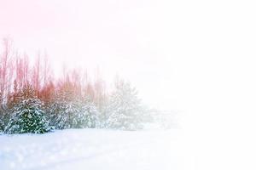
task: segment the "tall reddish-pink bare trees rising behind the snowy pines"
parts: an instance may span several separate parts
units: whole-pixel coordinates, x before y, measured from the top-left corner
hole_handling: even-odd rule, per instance
[[[12,47],[9,39],[3,39],[0,49],[0,105],[5,109],[17,100],[17,94],[27,84],[32,86],[35,96],[48,103],[61,93],[69,93],[69,97],[90,98],[101,108],[107,97],[106,83],[96,72],[90,80],[86,71],[63,68],[62,76],[57,79],[53,75],[46,54],[29,58]]]

